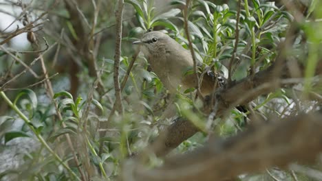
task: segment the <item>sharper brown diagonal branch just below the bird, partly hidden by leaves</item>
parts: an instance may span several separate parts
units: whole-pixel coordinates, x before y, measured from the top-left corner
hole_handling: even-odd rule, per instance
[[[279,84],[279,78],[291,77],[291,71],[289,71],[289,67],[286,64],[279,68],[281,68],[281,77],[275,77],[275,73],[273,73],[275,71],[275,65],[272,65],[264,71],[259,71],[254,76],[245,77],[232,86],[217,90],[215,92],[215,97],[218,104],[216,116],[222,116],[222,114],[224,114],[226,110],[230,110],[230,108],[234,108],[238,105],[248,104],[248,102],[252,101],[259,95],[270,93],[279,88],[281,86]],[[301,69],[303,69],[303,67],[301,67]],[[303,73],[299,74],[303,75]],[[322,74],[322,62],[319,63],[318,67],[316,67],[316,75],[319,74]],[[204,106],[204,111],[207,113],[211,112],[211,109],[213,108],[213,105],[211,105],[209,102]],[[159,136],[160,138],[158,138],[152,145],[153,151],[157,156],[164,156],[168,154],[173,148],[178,147],[182,141],[190,138],[196,132],[198,132],[198,129],[195,128],[195,125],[188,122],[188,119],[181,118],[179,122],[175,121],[175,123],[170,125],[169,128],[167,128],[167,130],[164,132],[164,134],[167,134],[168,132],[171,134]],[[178,132],[178,130],[185,131],[183,133]],[[162,141],[163,144],[161,143]],[[160,147],[160,144],[162,144],[162,147]]]

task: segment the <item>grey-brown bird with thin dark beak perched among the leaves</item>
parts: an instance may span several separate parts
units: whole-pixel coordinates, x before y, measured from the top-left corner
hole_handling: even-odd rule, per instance
[[[191,52],[184,49],[173,38],[162,32],[153,31],[147,32],[133,44],[142,45],[141,51],[147,57],[152,71],[158,75],[162,84],[171,93],[175,93],[180,85],[183,91],[197,87],[195,75],[186,73],[187,70],[193,68]],[[204,74],[200,83],[202,95],[212,93],[215,83],[213,74]]]

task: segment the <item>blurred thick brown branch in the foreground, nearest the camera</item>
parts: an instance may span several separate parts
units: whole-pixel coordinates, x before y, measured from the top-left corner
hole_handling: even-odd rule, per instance
[[[223,180],[269,167],[286,167],[291,162],[312,163],[322,149],[321,117],[321,113],[300,114],[271,121],[168,158],[157,169],[129,162],[123,170],[133,171],[132,180]]]

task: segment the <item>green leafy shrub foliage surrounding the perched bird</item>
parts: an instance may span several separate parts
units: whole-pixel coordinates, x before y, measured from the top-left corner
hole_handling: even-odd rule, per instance
[[[294,87],[283,87],[255,97],[248,106],[251,109],[246,112],[232,108],[223,117],[211,120],[210,116],[202,114],[202,104],[195,101],[193,88],[184,94],[178,93],[174,101],[170,99],[158,76],[149,70],[147,59],[139,54],[122,91],[124,114],[112,114],[116,89],[113,82],[115,41],[111,41],[115,32],[111,27],[116,21],[116,3],[99,0],[75,2],[77,8],[73,9],[67,1],[62,2],[64,5],[54,1],[35,1],[31,4],[9,1],[10,5],[21,10],[17,21],[21,21],[24,27],[42,24],[39,29],[30,27],[23,30],[28,33],[30,51],[21,52],[10,44],[4,47],[6,42],[0,43],[0,58],[8,60],[0,61],[1,67],[6,67],[1,69],[0,77],[3,99],[1,149],[10,149],[10,143],[15,140],[20,142],[17,145],[21,147],[25,138],[34,139],[40,145],[30,145],[17,168],[4,170],[0,167],[0,180],[116,180],[122,163],[129,156],[142,152],[167,125],[171,125],[171,120],[162,117],[169,105],[175,105],[180,116],[189,117],[202,130],[177,147],[173,151],[177,154],[201,147],[208,141],[210,132],[222,137],[243,132],[254,112],[264,119],[283,118],[319,107],[312,101],[297,99]],[[318,10],[322,7],[321,3],[312,2],[307,17],[302,19],[308,19],[310,13],[320,17]],[[231,76],[233,80],[241,80],[274,63],[281,53],[279,45],[297,17],[274,1],[242,1],[240,10],[237,1],[227,3],[192,1],[188,14],[189,32],[197,59],[203,64],[201,72],[211,67],[211,71],[226,79]],[[41,4],[47,7],[41,10],[46,15],[36,11],[43,8]],[[167,10],[160,11],[154,1],[125,0],[125,8],[133,12],[126,12],[122,22],[121,83],[127,76],[133,59],[131,55],[135,54],[136,48],[131,46],[131,42],[149,29],[162,29],[188,49],[182,8],[185,5],[186,1],[173,0],[167,4]],[[32,22],[38,17],[40,20]],[[46,19],[50,22],[45,22]],[[283,56],[293,57],[297,53],[294,59],[302,58],[305,62],[305,81],[300,82],[303,83],[300,84],[300,95],[305,97],[312,92],[319,95],[321,87],[314,86],[318,83],[312,77],[319,64],[322,28],[312,22],[301,23],[301,34],[294,38],[296,40],[292,45],[295,50],[286,50]],[[1,31],[1,38],[8,37],[8,34]],[[236,34],[239,35],[237,39]],[[42,36],[45,43],[40,38]],[[306,38],[310,43],[303,43]],[[41,51],[41,47],[46,46],[49,48]],[[233,61],[232,67],[230,61]],[[28,67],[32,67],[36,75],[61,74],[54,77],[34,76]],[[43,67],[47,67],[48,71]],[[23,72],[28,72],[28,75]],[[296,107],[301,109],[295,110]],[[103,134],[105,132],[107,134]],[[153,155],[147,157],[150,167],[162,164]],[[273,172],[285,180],[291,180],[295,174],[294,171]],[[239,176],[239,179],[272,177],[269,171],[260,174],[250,173]],[[299,177],[309,180],[310,175],[301,173]]]

